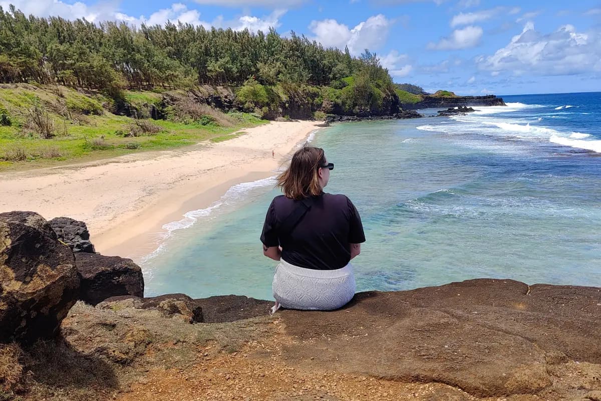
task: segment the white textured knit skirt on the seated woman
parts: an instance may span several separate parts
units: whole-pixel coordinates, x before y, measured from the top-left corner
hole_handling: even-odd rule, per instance
[[[299,268],[281,259],[273,275],[274,311],[288,309],[332,310],[343,307],[355,295],[350,263],[337,270]]]

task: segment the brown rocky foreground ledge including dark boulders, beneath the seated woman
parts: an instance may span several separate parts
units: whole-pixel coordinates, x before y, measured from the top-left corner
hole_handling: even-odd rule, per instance
[[[37,213],[0,213],[2,400],[601,399],[597,287],[479,279],[270,316],[144,298],[133,262],[74,250]]]

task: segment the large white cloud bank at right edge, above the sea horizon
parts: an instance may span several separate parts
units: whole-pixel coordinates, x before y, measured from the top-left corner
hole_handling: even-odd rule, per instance
[[[601,32],[576,32],[563,25],[555,32],[542,34],[528,22],[522,32],[495,54],[476,58],[478,67],[514,75],[573,75],[601,71]]]

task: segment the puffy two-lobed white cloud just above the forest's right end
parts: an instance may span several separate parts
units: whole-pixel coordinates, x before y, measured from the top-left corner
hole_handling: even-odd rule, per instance
[[[311,21],[309,29],[313,33],[311,38],[322,43],[323,46],[339,49],[349,46],[352,54],[360,54],[365,49],[379,49],[386,42],[391,25],[391,20],[386,19],[382,14],[377,14],[358,23],[352,29],[335,19]]]

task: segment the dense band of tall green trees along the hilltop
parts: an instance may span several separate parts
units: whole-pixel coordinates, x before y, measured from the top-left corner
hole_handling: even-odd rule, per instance
[[[196,84],[242,85],[255,79],[344,87],[343,78],[392,84],[369,52],[348,49],[275,30],[256,33],[168,22],[165,26],[26,17],[13,5],[0,7],[0,81],[58,83],[99,90],[111,87],[186,88]],[[390,87],[391,88],[391,87]]]

